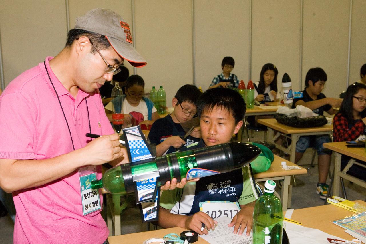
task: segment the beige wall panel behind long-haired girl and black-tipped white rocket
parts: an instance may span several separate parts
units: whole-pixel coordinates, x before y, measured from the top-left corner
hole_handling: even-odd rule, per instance
[[[252,81],[259,81],[265,63],[276,65],[277,86],[286,72],[298,89],[300,62],[300,1],[253,1]]]

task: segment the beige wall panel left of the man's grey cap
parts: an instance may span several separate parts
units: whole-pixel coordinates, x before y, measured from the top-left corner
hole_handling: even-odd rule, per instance
[[[1,51],[5,86],[23,71],[55,56],[66,43],[64,0],[2,0]]]

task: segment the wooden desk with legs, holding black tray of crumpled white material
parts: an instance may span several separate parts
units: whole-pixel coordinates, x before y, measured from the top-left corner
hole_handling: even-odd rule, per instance
[[[283,152],[290,154],[290,161],[295,162],[295,150],[296,150],[296,142],[298,141],[300,136],[312,136],[312,135],[324,135],[331,134],[333,130],[333,125],[323,125],[320,127],[311,127],[311,128],[296,128],[288,125],[284,125],[278,123],[276,119],[258,119],[258,123],[265,125],[268,127],[268,133],[265,132],[266,141],[274,143],[274,135],[273,130],[277,130],[285,137],[291,139],[291,145],[289,148],[284,148],[281,145],[276,145],[276,148],[280,149]],[[287,136],[290,134],[291,136]]]

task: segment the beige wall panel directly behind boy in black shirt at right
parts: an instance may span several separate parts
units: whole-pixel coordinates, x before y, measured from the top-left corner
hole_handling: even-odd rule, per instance
[[[347,86],[349,12],[346,0],[304,1],[302,77],[311,67],[324,69],[328,97],[338,97]]]

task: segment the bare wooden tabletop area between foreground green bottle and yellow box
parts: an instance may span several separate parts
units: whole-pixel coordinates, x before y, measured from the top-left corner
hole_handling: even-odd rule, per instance
[[[366,206],[366,203],[361,200],[356,200],[354,202]],[[354,212],[337,207],[333,204],[327,204],[310,208],[296,209],[292,213],[291,219],[301,222],[305,227],[319,229],[325,233],[332,234],[346,240],[352,240],[354,237],[344,232],[344,229],[340,226],[332,223],[332,221],[335,221],[336,219],[340,219],[352,214],[354,214]]]

